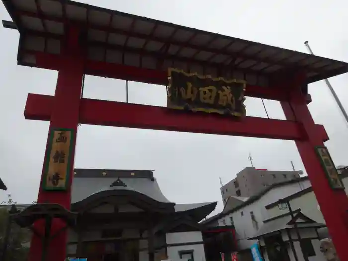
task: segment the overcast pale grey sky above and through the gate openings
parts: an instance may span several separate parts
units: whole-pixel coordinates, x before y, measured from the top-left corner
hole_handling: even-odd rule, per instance
[[[348,62],[348,2],[342,0],[80,0],[171,23]],[[1,19],[10,20],[0,4]],[[54,94],[57,72],[18,66],[19,33],[0,28],[0,175],[18,203],[36,200],[48,122],[28,121],[23,112],[28,93]],[[330,79],[348,110],[348,74]],[[336,165],[348,164],[348,128],[324,82],[311,84],[309,105],[324,124]],[[87,76],[84,97],[125,101],[125,83]],[[130,83],[129,101],[165,106],[162,86]],[[265,101],[271,118],[283,119],[280,104]],[[260,99],[247,98],[247,115],[265,117]],[[207,153],[209,152],[209,153]],[[292,141],[228,137],[83,125],[78,131],[76,168],[153,169],[168,199],[177,203],[219,201],[219,177],[226,183],[244,167],[304,169]],[[173,164],[175,158],[175,165]]]

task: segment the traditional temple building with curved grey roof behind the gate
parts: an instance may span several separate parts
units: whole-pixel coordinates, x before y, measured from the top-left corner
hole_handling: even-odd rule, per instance
[[[199,224],[217,202],[170,202],[153,171],[75,169],[71,203],[78,219],[69,229],[69,257],[205,261],[207,255],[218,257],[223,248],[219,238],[232,246],[231,229],[216,231]]]

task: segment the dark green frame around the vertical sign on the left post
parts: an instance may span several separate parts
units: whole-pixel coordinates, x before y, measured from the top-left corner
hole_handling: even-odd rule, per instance
[[[63,178],[58,179],[58,184],[59,184],[59,180],[65,179],[64,185],[63,186],[49,186],[48,181],[50,181],[49,179],[51,178],[50,176],[50,166],[52,163],[51,159],[52,159],[52,152],[54,149],[54,144],[57,143],[57,140],[55,141],[55,137],[56,134],[60,135],[60,134],[64,133],[69,133],[69,138],[66,139],[66,143],[67,143],[67,150],[65,150],[63,153],[64,155],[64,162],[62,162],[61,164],[64,164],[64,176]],[[56,138],[57,139],[57,138]],[[42,188],[46,191],[65,191],[68,188],[69,185],[69,179],[70,179],[70,168],[71,168],[71,153],[72,153],[72,149],[73,149],[73,141],[74,141],[74,129],[67,129],[67,128],[52,128],[50,129],[50,134],[49,134],[49,142],[47,145],[47,151],[46,151],[46,155],[45,155],[45,165],[44,165],[44,179],[43,179],[43,183],[42,183]],[[59,177],[58,177],[59,178]],[[53,183],[53,181],[52,181]]]

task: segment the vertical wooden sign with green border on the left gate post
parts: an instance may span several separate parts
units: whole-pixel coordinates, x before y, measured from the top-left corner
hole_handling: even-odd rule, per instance
[[[70,175],[72,129],[52,129],[44,168],[43,189],[66,190]]]

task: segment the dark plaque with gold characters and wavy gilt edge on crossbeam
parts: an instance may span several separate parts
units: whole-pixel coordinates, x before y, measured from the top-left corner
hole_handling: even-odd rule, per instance
[[[226,80],[170,68],[167,107],[245,116],[243,80]]]

